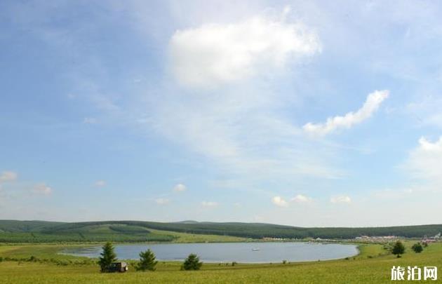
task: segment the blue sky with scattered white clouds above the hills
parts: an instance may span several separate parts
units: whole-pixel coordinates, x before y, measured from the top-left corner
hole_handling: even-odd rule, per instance
[[[437,1],[1,1],[0,219],[441,224]]]

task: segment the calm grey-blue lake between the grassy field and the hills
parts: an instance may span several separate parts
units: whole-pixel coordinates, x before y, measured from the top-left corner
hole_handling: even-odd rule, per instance
[[[190,253],[203,262],[308,262],[339,259],[358,254],[356,245],[321,243],[168,243],[152,245],[115,245],[119,259],[139,259],[141,251],[152,250],[159,260],[183,260]],[[67,249],[63,253],[99,257],[101,247]]]

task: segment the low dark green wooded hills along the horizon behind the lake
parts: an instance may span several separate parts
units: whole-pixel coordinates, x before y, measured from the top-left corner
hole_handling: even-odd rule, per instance
[[[355,238],[357,236],[403,236],[420,238],[434,236],[442,231],[442,224],[421,226],[389,226],[366,228],[303,228],[260,223],[216,222],[44,222],[0,220],[0,242],[52,241],[173,241],[170,234],[155,233],[149,229],[188,234],[213,234],[244,238]]]

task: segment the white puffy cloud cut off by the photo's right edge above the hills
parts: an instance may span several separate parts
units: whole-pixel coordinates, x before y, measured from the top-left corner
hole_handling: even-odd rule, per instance
[[[410,152],[406,170],[412,177],[442,184],[442,136],[435,142],[420,137],[419,145]]]

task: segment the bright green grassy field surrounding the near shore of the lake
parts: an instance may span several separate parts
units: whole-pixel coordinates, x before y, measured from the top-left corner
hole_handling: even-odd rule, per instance
[[[401,266],[442,267],[442,243],[429,245],[416,254],[406,242],[407,252],[396,258],[382,245],[361,245],[360,255],[327,262],[291,264],[204,264],[201,271],[180,271],[178,262],[159,262],[157,271],[99,273],[98,265],[84,258],[55,255],[60,245],[0,246],[2,257],[61,259],[52,262],[0,262],[0,283],[390,283],[390,269]],[[63,246],[65,247],[65,246]],[[132,268],[132,267],[131,267]],[[438,283],[438,281],[431,281]]]

